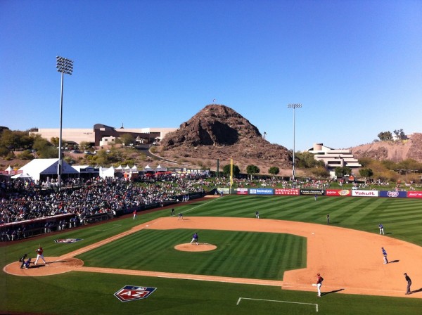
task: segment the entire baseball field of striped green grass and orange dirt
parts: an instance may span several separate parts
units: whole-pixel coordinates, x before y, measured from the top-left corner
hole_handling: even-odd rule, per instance
[[[7,243],[0,313],[421,313],[421,200],[224,195],[175,210]],[[20,269],[39,245],[47,264]]]

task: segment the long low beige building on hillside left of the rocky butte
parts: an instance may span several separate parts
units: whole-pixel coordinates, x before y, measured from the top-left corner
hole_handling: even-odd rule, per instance
[[[164,138],[165,134],[175,131],[177,128],[118,128],[106,126],[105,124],[95,124],[92,129],[62,129],[62,139],[81,143],[82,141],[92,143],[93,146],[102,146],[115,141],[123,134],[131,134],[137,143],[154,143]],[[31,134],[39,134],[42,138],[50,140],[60,136],[60,129],[39,128]],[[134,143],[135,144],[135,143]]]

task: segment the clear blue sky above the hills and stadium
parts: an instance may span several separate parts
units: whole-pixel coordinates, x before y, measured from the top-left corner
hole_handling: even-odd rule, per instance
[[[422,1],[0,1],[0,125],[179,127],[215,99],[267,140],[422,132]]]

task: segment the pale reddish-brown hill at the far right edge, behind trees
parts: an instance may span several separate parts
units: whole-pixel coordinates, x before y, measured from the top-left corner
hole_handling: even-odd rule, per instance
[[[376,160],[413,159],[422,162],[422,134],[415,133],[402,141],[377,141],[350,148],[355,158],[373,158]]]

